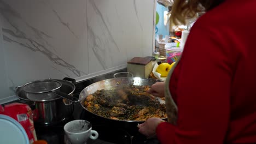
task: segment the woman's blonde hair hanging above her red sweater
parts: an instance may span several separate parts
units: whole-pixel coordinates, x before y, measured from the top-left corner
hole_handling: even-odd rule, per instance
[[[185,25],[186,19],[191,19],[201,11],[208,11],[225,0],[174,0],[172,5],[170,26],[172,23]]]

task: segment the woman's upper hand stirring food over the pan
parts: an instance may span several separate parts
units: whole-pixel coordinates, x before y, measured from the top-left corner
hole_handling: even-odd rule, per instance
[[[154,95],[155,97],[165,97],[165,82],[156,82],[147,93]]]

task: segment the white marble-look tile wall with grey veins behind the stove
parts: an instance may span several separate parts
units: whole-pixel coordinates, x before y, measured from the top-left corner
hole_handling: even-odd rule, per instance
[[[15,87],[26,82],[86,80],[124,68],[135,56],[150,56],[154,4],[0,0],[0,101],[13,97]]]

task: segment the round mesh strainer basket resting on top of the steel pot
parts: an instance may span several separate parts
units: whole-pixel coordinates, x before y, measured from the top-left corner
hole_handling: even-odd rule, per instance
[[[38,80],[26,83],[22,86],[22,90],[27,93],[46,93],[59,89],[61,83],[55,80]]]

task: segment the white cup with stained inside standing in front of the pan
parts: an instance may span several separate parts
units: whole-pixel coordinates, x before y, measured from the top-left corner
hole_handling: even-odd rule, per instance
[[[72,144],[85,144],[88,139],[96,140],[98,138],[98,133],[92,130],[92,125],[90,122],[85,120],[74,120],[68,122],[64,126],[65,134]]]

